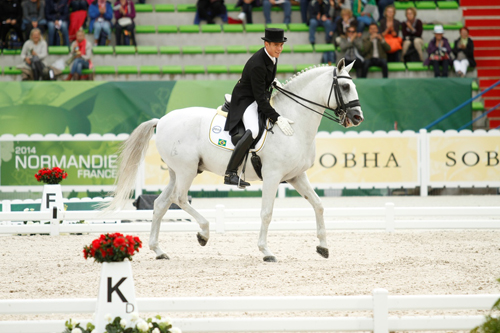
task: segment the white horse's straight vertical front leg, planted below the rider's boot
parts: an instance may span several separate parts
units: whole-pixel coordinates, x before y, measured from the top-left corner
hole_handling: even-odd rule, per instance
[[[278,191],[280,180],[264,180],[262,186],[262,206],[260,211],[261,225],[259,234],[259,250],[264,254],[264,261],[276,262],[276,257],[267,247],[267,231],[273,218],[274,199]]]

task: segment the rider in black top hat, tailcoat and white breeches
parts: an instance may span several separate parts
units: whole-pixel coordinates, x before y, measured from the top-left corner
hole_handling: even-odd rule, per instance
[[[293,121],[280,116],[269,103],[272,86],[281,86],[275,75],[278,57],[287,40],[284,34],[283,29],[266,28],[265,37],[262,37],[264,47],[247,61],[241,78],[233,89],[231,107],[224,130],[233,134],[232,130],[242,121],[246,132],[234,147],[227,164],[224,184],[239,185],[240,187],[250,186],[249,183],[240,180],[237,172],[250,145],[259,134],[259,112],[278,124],[286,135],[293,134],[293,129],[290,126]]]

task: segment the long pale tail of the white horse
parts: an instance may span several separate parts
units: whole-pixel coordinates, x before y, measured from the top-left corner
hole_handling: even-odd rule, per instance
[[[140,124],[125,140],[119,150],[118,175],[115,190],[111,194],[113,200],[104,202],[100,208],[114,211],[123,208],[132,194],[139,165],[148,149],[149,140],[153,136],[159,119],[151,119]]]

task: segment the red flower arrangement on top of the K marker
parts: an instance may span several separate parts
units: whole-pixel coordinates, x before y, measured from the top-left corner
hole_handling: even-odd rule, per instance
[[[97,262],[119,262],[139,252],[142,241],[136,236],[124,236],[120,233],[104,234],[94,239],[92,244],[83,247],[85,259],[94,258]]]

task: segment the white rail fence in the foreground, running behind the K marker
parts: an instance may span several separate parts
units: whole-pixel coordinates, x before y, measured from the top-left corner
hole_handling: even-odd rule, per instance
[[[482,315],[390,316],[389,311],[489,310],[500,294],[390,296],[375,289],[370,296],[167,297],[138,298],[140,313],[167,312],[183,332],[321,332],[470,330]],[[93,313],[96,299],[0,300],[0,315]],[[369,317],[211,317],[176,318],[175,312],[370,311]],[[69,318],[67,318],[69,319]],[[66,319],[66,320],[67,320]],[[84,325],[89,319],[72,318]],[[65,320],[0,321],[3,333],[62,332]]]

